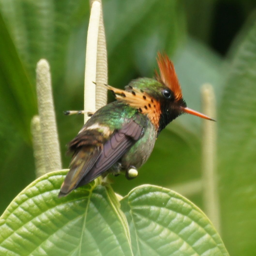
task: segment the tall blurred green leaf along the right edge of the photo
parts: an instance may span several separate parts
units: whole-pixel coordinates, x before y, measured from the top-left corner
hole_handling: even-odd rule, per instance
[[[256,20],[237,48],[219,111],[222,233],[231,255],[256,254]]]

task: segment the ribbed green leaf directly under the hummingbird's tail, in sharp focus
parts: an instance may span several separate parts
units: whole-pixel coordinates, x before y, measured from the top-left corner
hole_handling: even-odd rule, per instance
[[[66,173],[40,177],[12,201],[0,218],[0,254],[132,255],[113,190],[95,180],[59,199]]]

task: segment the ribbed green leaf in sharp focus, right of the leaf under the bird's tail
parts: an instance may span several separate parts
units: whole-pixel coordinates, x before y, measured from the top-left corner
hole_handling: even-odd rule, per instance
[[[134,255],[229,255],[205,214],[166,188],[142,185],[121,200]]]

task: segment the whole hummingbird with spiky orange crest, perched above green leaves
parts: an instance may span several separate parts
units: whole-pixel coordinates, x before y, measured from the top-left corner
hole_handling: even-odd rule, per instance
[[[187,108],[173,62],[157,54],[159,74],[154,78],[132,80],[125,90],[106,85],[116,101],[109,103],[84,124],[69,143],[73,152],[70,170],[61,185],[59,197],[108,173],[124,173],[135,178],[137,169],[151,155],[164,127],[188,113],[215,121]]]

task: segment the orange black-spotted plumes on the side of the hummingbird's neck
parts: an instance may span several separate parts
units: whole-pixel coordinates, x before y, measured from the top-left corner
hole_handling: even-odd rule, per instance
[[[147,93],[132,87],[131,91],[124,91],[109,85],[107,87],[115,94],[118,101],[129,104],[133,108],[138,109],[140,113],[147,115],[156,130],[158,130],[161,115],[160,102],[156,101]]]

